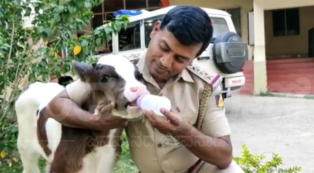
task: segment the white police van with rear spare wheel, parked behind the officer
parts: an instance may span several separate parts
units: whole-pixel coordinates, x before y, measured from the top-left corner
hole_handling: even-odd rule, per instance
[[[130,24],[126,30],[112,33],[110,51],[137,58],[148,47],[154,23],[162,20],[164,15],[175,6],[170,6],[154,11],[128,11],[121,10],[114,14],[129,14]],[[235,28],[230,14],[225,11],[202,8],[208,13],[213,24],[213,38],[207,49],[195,59],[203,70],[215,72],[223,77],[222,94],[230,97],[232,91],[237,91],[245,84],[242,72],[244,62],[248,60],[247,43],[235,33]],[[134,15],[133,15],[134,14]]]

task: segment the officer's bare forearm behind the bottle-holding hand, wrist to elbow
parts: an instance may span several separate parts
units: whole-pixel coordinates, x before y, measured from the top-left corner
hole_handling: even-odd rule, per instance
[[[223,139],[207,136],[189,124],[173,135],[195,156],[220,169],[228,167],[232,161],[230,144]]]

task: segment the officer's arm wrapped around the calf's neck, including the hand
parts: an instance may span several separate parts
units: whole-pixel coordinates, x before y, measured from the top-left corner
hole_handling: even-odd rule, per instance
[[[93,115],[81,109],[73,100],[70,99],[64,89],[50,101],[44,111],[44,115],[54,118],[62,125],[68,127],[108,130],[126,126],[128,122],[127,120],[120,117],[106,115],[110,114],[113,108],[114,103],[109,103],[100,110],[100,115]]]

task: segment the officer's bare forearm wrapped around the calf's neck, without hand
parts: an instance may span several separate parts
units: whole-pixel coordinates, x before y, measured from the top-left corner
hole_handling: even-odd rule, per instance
[[[45,116],[54,118],[64,126],[98,130],[95,116],[82,110],[67,98],[53,99],[46,107]]]

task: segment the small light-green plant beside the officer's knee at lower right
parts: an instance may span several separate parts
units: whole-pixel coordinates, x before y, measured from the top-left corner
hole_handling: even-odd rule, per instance
[[[235,157],[234,160],[246,173],[293,173],[301,171],[301,167],[294,166],[281,168],[283,158],[273,153],[270,161],[264,161],[263,154],[251,154],[246,145],[242,146],[242,157]]]

